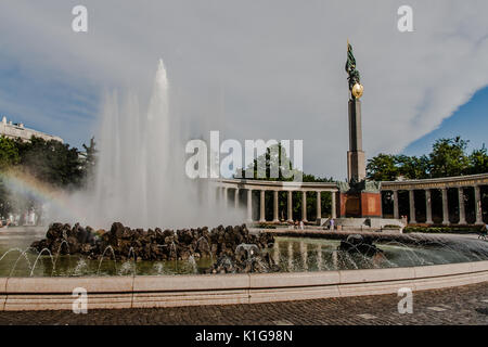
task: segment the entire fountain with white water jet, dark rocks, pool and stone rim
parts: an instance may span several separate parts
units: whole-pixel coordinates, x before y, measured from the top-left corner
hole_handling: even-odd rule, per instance
[[[335,291],[330,286],[345,284],[347,291],[347,285],[367,283],[368,279],[371,282],[391,279],[397,285],[398,272],[407,273],[401,279],[412,283],[419,275],[422,281],[419,285],[422,285],[428,283],[425,279],[431,275],[429,270],[422,269],[424,266],[455,265],[453,269],[458,272],[453,277],[488,273],[484,261],[488,260],[488,244],[479,240],[382,233],[373,236],[316,233],[292,237],[286,232],[253,233],[245,224],[188,228],[235,224],[244,216],[223,206],[215,208],[216,196],[209,194],[208,187],[187,178],[184,157],[179,154],[184,153],[183,141],[189,138],[189,129],[180,127],[181,119],[170,113],[169,94],[166,69],[160,61],[146,112],[141,112],[134,94],[123,102],[116,93],[106,97],[93,185],[87,192],[72,195],[68,208],[51,208],[51,216],[63,223],[51,224],[46,236],[42,235],[44,239],[38,233],[9,239],[11,230],[3,232],[7,237],[0,237],[1,283],[21,277],[23,282],[11,291],[36,294],[35,287],[23,286],[24,282],[31,283],[31,277],[47,278],[41,280],[50,286],[64,280],[85,281],[86,285],[92,281],[97,288],[104,288],[100,290],[101,295],[119,293],[121,298],[134,292],[134,284],[138,284],[142,293],[160,291],[162,297],[168,295],[160,303],[169,303],[168,297],[175,299],[171,291],[178,293],[179,298],[197,295],[195,301],[206,297],[201,291],[211,293],[207,297],[215,300],[219,297],[215,293],[220,291],[222,296],[228,295],[222,303],[229,304],[251,300],[253,291],[258,292],[256,300],[266,301],[277,297],[304,298],[297,288],[307,285],[311,288],[308,293],[317,297]],[[97,228],[112,227],[95,231],[79,223],[74,227],[66,223],[75,218]],[[119,222],[113,222],[115,220]],[[378,280],[374,278],[377,272],[361,272],[368,270],[384,272]],[[432,274],[433,278],[446,275],[445,269],[435,271],[440,274]],[[253,272],[259,274],[247,274]],[[298,273],[286,277],[287,272]],[[312,272],[318,272],[317,278]],[[233,275],[216,279],[204,273]],[[108,275],[110,282],[104,282]],[[155,278],[146,281],[145,275]],[[259,279],[265,277],[268,278],[260,283]],[[465,278],[461,280],[467,281]],[[120,287],[124,290],[117,292]],[[4,288],[7,293],[7,284]],[[266,291],[274,288],[277,292],[267,296]],[[367,292],[367,285],[364,288]],[[187,295],[180,295],[187,290]],[[136,295],[131,296],[128,307],[138,307],[136,299]],[[181,305],[188,303],[183,300]]]

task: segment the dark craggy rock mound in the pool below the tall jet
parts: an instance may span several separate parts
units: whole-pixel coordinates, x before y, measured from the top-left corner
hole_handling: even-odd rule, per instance
[[[172,230],[156,228],[144,231],[130,229],[120,222],[114,222],[108,232],[97,232],[90,227],[76,223],[53,223],[46,233],[46,239],[33,243],[38,252],[47,248],[52,255],[85,255],[89,259],[100,259],[107,247],[113,248],[116,259],[176,260],[213,257],[216,260],[210,273],[262,272],[273,270],[275,265],[260,250],[273,245],[274,239],[269,234],[251,235],[246,226],[219,226],[209,230],[197,229]],[[252,244],[253,252],[236,248],[241,244]],[[112,252],[110,252],[113,257]],[[106,257],[106,255],[105,255]],[[214,271],[215,270],[215,271]]]

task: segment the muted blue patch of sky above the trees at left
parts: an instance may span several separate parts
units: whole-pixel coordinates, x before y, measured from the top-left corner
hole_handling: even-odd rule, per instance
[[[0,53],[1,56],[1,53]],[[15,61],[0,64],[0,116],[60,136],[81,147],[92,136],[100,94],[89,83],[74,86],[63,74],[46,78]]]

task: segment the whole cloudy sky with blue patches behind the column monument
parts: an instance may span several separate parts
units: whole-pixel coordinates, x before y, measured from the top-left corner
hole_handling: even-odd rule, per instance
[[[85,0],[88,33],[74,33],[78,4],[0,3],[0,115],[72,145],[97,134],[107,91],[144,107],[163,59],[170,112],[195,138],[303,140],[306,172],[345,179],[347,39],[368,157],[458,132],[485,142],[486,0]],[[397,28],[403,4],[412,33]]]

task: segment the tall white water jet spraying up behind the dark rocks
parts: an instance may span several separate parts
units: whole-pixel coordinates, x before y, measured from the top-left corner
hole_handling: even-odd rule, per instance
[[[106,228],[114,221],[134,228],[176,228],[237,223],[242,215],[216,207],[208,182],[184,171],[184,142],[191,129],[170,112],[170,85],[159,61],[147,111],[134,93],[105,97],[94,184],[77,194],[87,224]],[[188,124],[188,123],[184,123]],[[68,216],[57,219],[69,220]],[[73,218],[73,217],[72,217]]]

